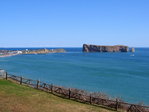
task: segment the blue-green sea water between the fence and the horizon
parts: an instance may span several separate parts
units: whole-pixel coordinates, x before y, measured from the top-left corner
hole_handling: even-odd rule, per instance
[[[149,105],[149,48],[136,48],[135,53],[82,53],[81,48],[65,49],[67,53],[3,57],[0,68],[26,78]]]

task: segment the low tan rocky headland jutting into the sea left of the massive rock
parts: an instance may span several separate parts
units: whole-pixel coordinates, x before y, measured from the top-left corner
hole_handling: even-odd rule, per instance
[[[37,50],[23,50],[22,54],[46,54],[46,53],[63,53],[64,49],[37,49]]]

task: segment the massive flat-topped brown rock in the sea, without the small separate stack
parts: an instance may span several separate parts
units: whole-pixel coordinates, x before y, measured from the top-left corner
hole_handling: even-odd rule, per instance
[[[128,46],[100,46],[83,44],[83,52],[128,52]]]

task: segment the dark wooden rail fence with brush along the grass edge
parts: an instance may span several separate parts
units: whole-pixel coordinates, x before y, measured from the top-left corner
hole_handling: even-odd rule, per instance
[[[64,88],[53,84],[47,84],[38,80],[26,79],[24,77],[19,77],[7,73],[5,78],[6,80],[12,79],[17,81],[19,84],[25,84],[32,88],[43,90],[54,95],[58,95],[82,103],[88,103],[96,106],[104,106],[114,109],[116,111],[125,110],[127,112],[149,112],[149,106],[125,103],[118,99],[110,100],[107,98],[101,98],[98,95],[85,92],[83,90]]]

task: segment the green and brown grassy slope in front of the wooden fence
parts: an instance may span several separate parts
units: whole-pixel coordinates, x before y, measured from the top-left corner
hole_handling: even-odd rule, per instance
[[[110,112],[0,79],[0,112]]]

